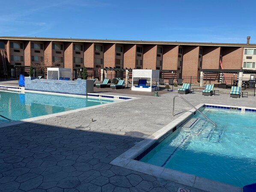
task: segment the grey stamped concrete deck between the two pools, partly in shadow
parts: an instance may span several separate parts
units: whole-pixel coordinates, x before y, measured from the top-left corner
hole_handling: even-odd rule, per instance
[[[2,84],[2,82],[0,83]],[[2,84],[4,85],[4,84]],[[191,109],[166,92],[159,97],[97,90],[140,99],[0,128],[0,191],[176,192],[170,180],[111,165],[116,157]],[[256,107],[256,97],[182,95],[199,103]],[[93,118],[93,122],[91,122]]]

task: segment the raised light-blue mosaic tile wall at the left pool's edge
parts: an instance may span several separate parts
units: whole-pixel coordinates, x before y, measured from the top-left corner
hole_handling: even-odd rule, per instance
[[[25,77],[25,90],[84,95],[93,92],[93,80],[48,80]]]

